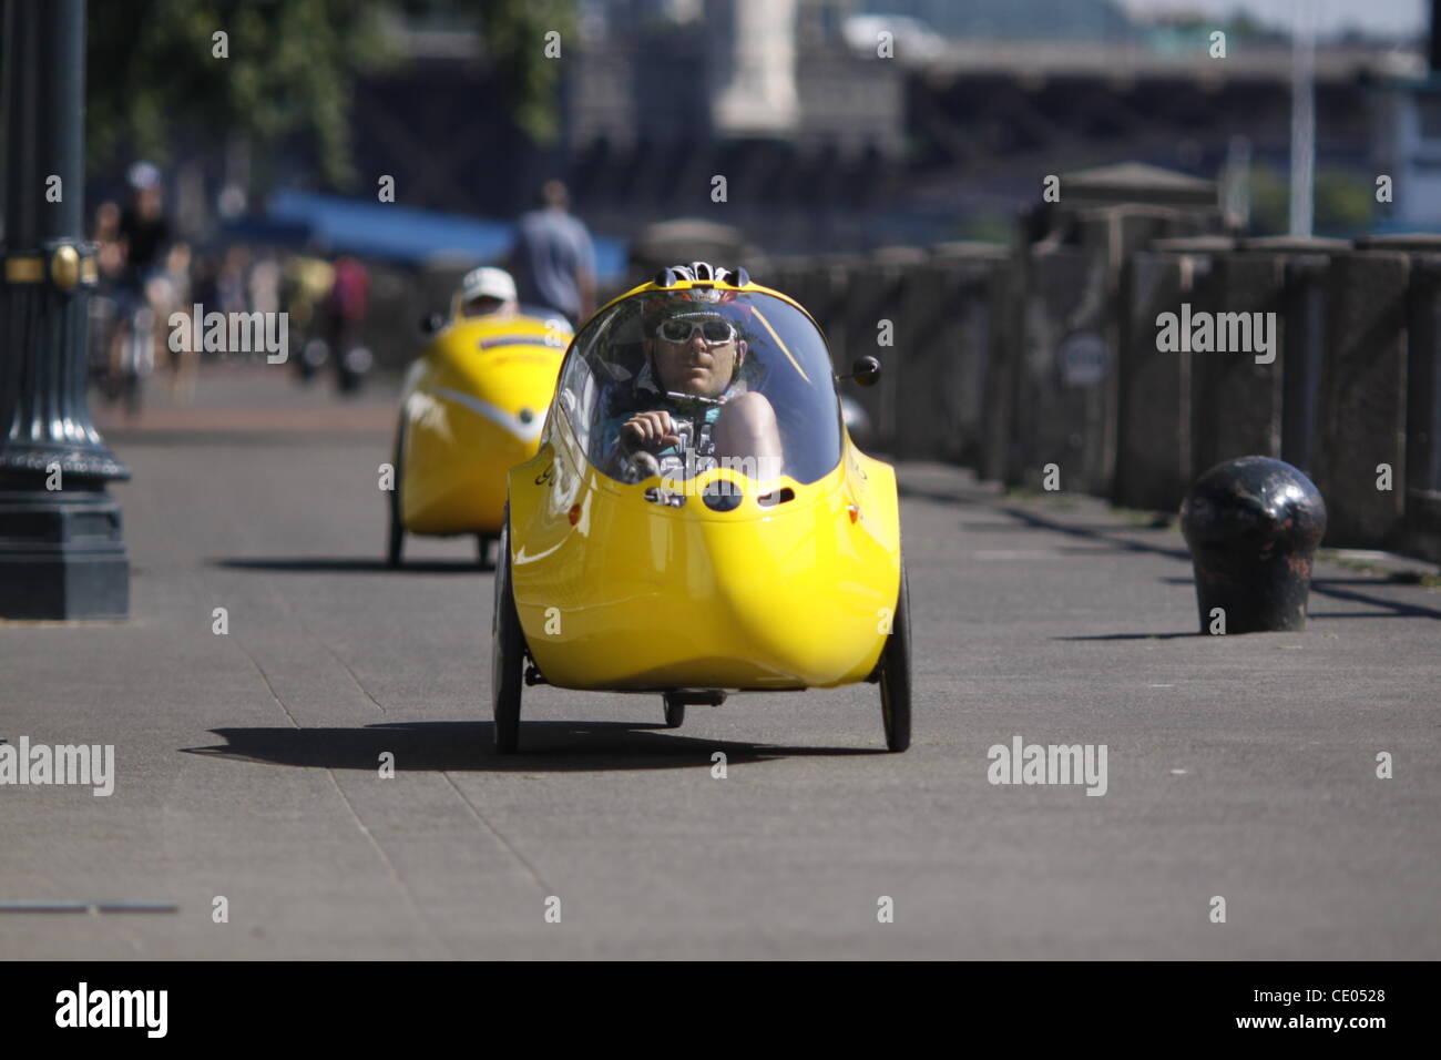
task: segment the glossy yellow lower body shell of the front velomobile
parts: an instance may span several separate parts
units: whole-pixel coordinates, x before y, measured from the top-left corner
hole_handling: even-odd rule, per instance
[[[744,490],[735,511],[705,506],[715,479]],[[846,437],[839,466],[808,485],[712,469],[669,508],[646,499],[660,483],[595,472],[561,412],[510,472],[516,606],[552,685],[826,688],[872,673],[901,586],[888,464]],[[794,499],[759,503],[784,487]]]

